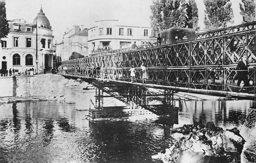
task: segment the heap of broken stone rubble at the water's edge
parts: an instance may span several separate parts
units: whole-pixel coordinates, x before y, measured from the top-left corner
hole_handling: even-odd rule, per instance
[[[208,158],[208,162],[214,158],[221,162],[240,163],[244,140],[237,128],[224,131],[213,122],[207,122],[206,125],[184,125],[174,129],[172,133],[177,142],[166,149],[165,153],[155,155],[164,163],[182,162],[181,153],[184,151],[190,152],[194,158],[199,155]],[[204,159],[201,160],[206,162]]]

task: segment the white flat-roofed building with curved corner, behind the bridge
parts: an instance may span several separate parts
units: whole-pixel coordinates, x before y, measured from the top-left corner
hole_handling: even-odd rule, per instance
[[[94,27],[88,29],[88,52],[130,47],[134,41],[140,45],[150,40],[151,32],[150,27],[126,25],[118,20],[95,21]]]

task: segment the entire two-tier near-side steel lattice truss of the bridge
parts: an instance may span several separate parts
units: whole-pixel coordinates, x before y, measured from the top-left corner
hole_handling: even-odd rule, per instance
[[[198,39],[184,43],[63,61],[62,74],[130,81],[130,66],[136,67],[136,82],[142,82],[140,65],[147,69],[147,83],[184,88],[241,91],[234,79],[237,62],[248,56],[248,79],[255,89],[256,29]],[[88,67],[101,70],[89,73]],[[79,66],[79,69],[75,67]],[[243,90],[242,90],[243,91]],[[254,91],[255,92],[255,91]]]

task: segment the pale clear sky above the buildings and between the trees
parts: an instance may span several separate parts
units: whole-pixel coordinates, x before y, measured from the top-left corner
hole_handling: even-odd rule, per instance
[[[241,23],[239,2],[231,0],[234,24]],[[93,27],[98,20],[119,20],[127,25],[150,27],[152,0],[5,0],[7,20],[23,18],[32,23],[42,5],[45,16],[52,26],[53,35],[60,43],[66,28],[73,25]],[[204,28],[203,0],[196,0],[199,23]]]

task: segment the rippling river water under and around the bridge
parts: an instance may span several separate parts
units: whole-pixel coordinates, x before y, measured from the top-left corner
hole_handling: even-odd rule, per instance
[[[148,163],[172,145],[170,128],[204,124],[241,128],[251,101],[179,101],[178,119],[89,123],[75,104],[0,104],[0,162]],[[168,123],[167,123],[168,122]]]

